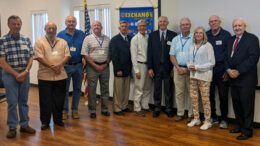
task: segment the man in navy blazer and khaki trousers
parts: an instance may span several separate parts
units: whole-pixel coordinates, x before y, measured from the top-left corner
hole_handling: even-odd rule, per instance
[[[114,114],[124,115],[123,112],[131,112],[127,107],[130,90],[130,73],[132,69],[130,41],[131,37],[127,35],[128,23],[120,22],[118,27],[120,33],[114,36],[109,44],[110,58],[114,66],[114,95],[113,109]]]

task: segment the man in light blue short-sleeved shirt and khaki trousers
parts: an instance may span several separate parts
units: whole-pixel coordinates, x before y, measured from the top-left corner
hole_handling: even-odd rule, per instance
[[[175,97],[177,105],[176,122],[184,119],[185,105],[189,110],[188,119],[189,122],[192,117],[192,107],[190,99],[186,90],[189,91],[189,70],[186,62],[189,54],[190,45],[192,43],[192,34],[190,33],[191,23],[189,18],[182,18],[180,21],[181,34],[172,40],[170,59],[174,65],[174,84],[175,84]],[[186,104],[185,104],[186,102]]]

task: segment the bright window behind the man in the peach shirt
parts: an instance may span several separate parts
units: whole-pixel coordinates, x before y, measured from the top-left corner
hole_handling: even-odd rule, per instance
[[[37,39],[45,35],[44,26],[47,22],[47,12],[32,12],[32,46]]]

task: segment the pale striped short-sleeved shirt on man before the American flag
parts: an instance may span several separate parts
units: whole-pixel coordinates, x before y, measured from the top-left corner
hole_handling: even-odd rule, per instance
[[[81,55],[89,56],[94,62],[105,62],[109,55],[109,41],[106,35],[90,34],[83,41]]]

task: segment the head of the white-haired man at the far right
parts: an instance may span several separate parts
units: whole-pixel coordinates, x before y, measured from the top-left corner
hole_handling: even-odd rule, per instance
[[[242,18],[235,19],[232,23],[233,31],[236,36],[241,36],[246,30],[246,23]]]

